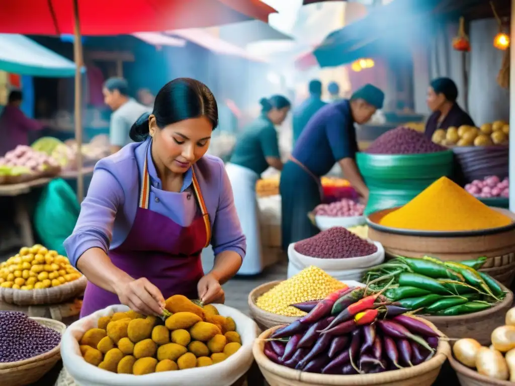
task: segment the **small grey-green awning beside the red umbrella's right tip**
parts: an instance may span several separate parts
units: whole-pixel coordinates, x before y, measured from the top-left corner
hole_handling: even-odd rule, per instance
[[[261,20],[249,20],[221,26],[220,38],[238,46],[262,40],[293,40],[291,36],[273,28]]]

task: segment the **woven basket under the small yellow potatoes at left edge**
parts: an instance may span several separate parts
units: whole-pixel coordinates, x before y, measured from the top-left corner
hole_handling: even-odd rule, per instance
[[[0,302],[18,306],[35,306],[43,304],[58,304],[82,294],[88,279],[81,276],[73,282],[37,290],[19,290],[0,288]]]

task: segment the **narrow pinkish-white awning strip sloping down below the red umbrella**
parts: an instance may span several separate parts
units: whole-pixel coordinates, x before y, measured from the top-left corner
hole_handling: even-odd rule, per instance
[[[266,61],[263,58],[250,54],[244,48],[213,36],[213,34],[203,30],[202,28],[176,29],[167,31],[167,33],[174,34],[182,39],[198,44],[199,46],[209,49],[216,54],[239,56],[255,62]]]

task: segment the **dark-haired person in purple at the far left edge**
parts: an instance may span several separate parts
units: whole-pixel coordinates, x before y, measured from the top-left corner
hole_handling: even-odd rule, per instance
[[[20,108],[23,100],[22,92],[13,90],[9,93],[7,106],[0,114],[0,156],[18,145],[29,145],[30,131],[43,129],[37,120],[25,115]]]

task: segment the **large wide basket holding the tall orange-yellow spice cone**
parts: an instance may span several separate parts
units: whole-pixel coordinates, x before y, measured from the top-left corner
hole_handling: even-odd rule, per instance
[[[371,214],[367,223],[369,225],[368,237],[383,244],[386,256],[401,255],[406,257],[422,257],[430,255],[441,260],[469,260],[480,256],[488,257],[485,265],[480,269],[509,287],[515,277],[515,229],[500,230],[499,232],[486,232],[477,235],[471,232],[463,236],[423,236],[413,234],[400,234],[388,232],[385,227],[378,226],[380,219],[396,208],[381,210]],[[515,215],[506,209],[492,208],[515,218]]]

